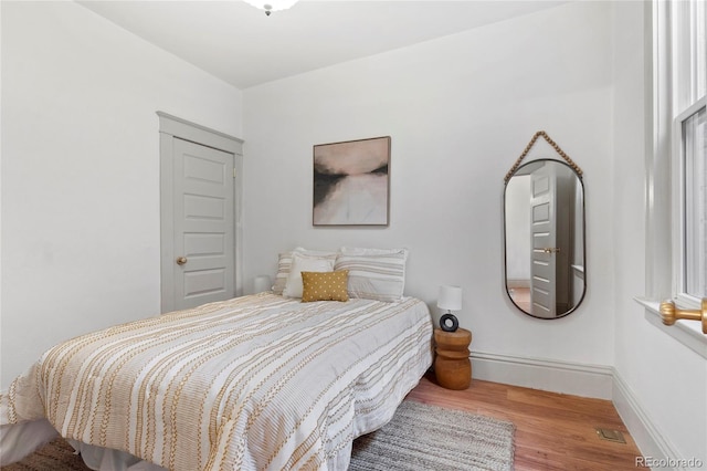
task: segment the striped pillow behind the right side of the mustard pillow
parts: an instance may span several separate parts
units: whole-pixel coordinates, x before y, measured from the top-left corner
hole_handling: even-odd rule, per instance
[[[334,270],[348,270],[350,297],[395,302],[405,289],[408,250],[346,250],[336,259]]]

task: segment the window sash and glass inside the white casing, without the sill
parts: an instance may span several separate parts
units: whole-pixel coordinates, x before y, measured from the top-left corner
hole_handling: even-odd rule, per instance
[[[656,2],[661,3],[661,2]],[[680,304],[707,297],[707,40],[705,2],[665,2],[674,188],[673,291]]]

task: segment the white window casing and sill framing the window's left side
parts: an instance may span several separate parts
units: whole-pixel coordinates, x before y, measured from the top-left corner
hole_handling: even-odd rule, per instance
[[[659,9],[664,9],[659,11]],[[652,82],[647,84],[647,116],[646,145],[651,151],[646,153],[646,293],[645,297],[636,297],[635,301],[645,307],[645,318],[665,334],[674,337],[688,348],[707,358],[707,335],[703,334],[700,323],[694,321],[677,321],[673,326],[666,326],[662,322],[659,303],[663,300],[674,299],[679,308],[697,308],[695,299],[677,295],[678,279],[673,273],[682,273],[677,270],[677,258],[673,253],[680,253],[679,244],[682,227],[676,228],[673,216],[679,211],[680,188],[671,179],[671,175],[679,170],[680,159],[673,159],[671,150],[675,150],[672,134],[674,129],[672,87],[663,86],[674,80],[667,61],[674,51],[671,51],[662,38],[669,33],[668,2],[653,2],[653,10],[648,12],[650,19],[646,27],[651,31],[652,42],[646,57],[652,59],[647,64],[652,71]],[[659,49],[659,50],[658,50]],[[655,86],[658,84],[658,86]],[[703,98],[704,100],[704,98]],[[695,105],[698,106],[698,105]],[[690,107],[692,109],[692,107]],[[677,140],[677,139],[676,139]],[[679,151],[679,148],[677,149]],[[656,195],[671,195],[671,201],[656,198]],[[677,206],[676,206],[677,205]],[[678,212],[679,213],[679,212]],[[679,231],[679,232],[678,232]],[[677,232],[677,233],[675,233]],[[677,249],[679,247],[679,249]],[[678,250],[678,252],[676,252]],[[677,271],[676,271],[677,270]]]

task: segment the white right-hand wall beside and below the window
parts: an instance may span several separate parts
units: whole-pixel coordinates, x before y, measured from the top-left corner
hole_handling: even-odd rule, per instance
[[[707,363],[694,350],[661,332],[644,317],[633,296],[645,292],[646,145],[652,126],[650,36],[644,29],[650,4],[616,2],[614,48],[614,202],[611,223],[615,292],[613,297],[615,369],[632,395],[633,407],[655,428],[668,450],[651,449],[650,437],[634,435],[644,453],[701,459],[707,469]],[[648,72],[650,74],[650,72]],[[646,123],[647,121],[647,123]],[[646,127],[647,124],[647,127]],[[631,178],[627,178],[630,176]],[[669,198],[656,195],[655,198]],[[664,250],[669,251],[669,247]],[[630,421],[631,417],[624,417]],[[631,425],[631,423],[630,423]]]

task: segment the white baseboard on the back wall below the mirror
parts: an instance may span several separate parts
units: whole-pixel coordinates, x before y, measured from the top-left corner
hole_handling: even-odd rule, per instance
[[[472,378],[574,396],[612,399],[613,368],[472,352]]]

